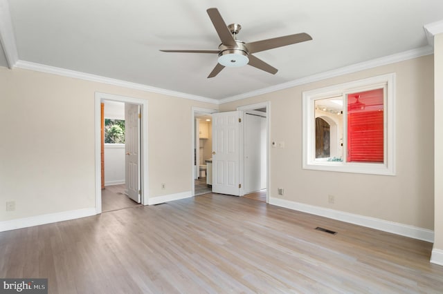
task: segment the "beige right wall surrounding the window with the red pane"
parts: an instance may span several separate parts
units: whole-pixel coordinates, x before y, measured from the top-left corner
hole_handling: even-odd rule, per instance
[[[303,170],[302,92],[390,72],[397,79],[397,175]],[[432,55],[222,104],[220,110],[260,101],[271,101],[271,141],[285,142],[285,148],[271,148],[271,197],[284,188],[282,198],[293,202],[433,229]]]

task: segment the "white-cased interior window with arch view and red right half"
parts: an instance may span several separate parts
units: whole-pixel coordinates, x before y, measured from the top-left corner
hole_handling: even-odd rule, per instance
[[[302,168],[395,175],[394,86],[392,73],[303,92]]]

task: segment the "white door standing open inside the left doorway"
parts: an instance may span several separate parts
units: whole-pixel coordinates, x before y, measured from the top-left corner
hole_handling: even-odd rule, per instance
[[[140,203],[140,106],[125,104],[125,181],[129,198]]]

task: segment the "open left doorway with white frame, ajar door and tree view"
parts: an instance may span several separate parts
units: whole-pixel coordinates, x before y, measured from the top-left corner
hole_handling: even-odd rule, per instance
[[[96,213],[147,204],[146,118],[147,101],[96,93]]]

